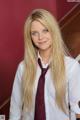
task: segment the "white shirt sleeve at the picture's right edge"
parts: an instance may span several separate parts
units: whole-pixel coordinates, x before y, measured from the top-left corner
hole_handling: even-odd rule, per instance
[[[69,76],[69,102],[71,110],[80,114],[80,64],[74,60]]]

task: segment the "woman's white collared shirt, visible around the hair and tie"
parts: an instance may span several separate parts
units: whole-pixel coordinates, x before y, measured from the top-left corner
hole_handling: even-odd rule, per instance
[[[43,64],[43,66],[46,67],[47,65]],[[44,98],[45,98],[46,120],[76,120],[75,114],[80,114],[80,108],[78,106],[78,102],[80,101],[80,65],[76,60],[70,57],[65,57],[65,67],[66,67],[66,77],[67,77],[66,102],[67,103],[69,102],[71,106],[70,115],[68,116],[67,114],[65,114],[56,105],[55,88],[52,83],[51,72],[49,69],[45,76],[46,80],[45,80]],[[21,85],[22,85],[23,70],[24,70],[24,62],[21,62],[18,66],[13,84],[9,120],[34,120],[34,111],[35,111],[34,108],[31,110],[31,112],[28,112],[27,109],[25,112],[22,111]],[[41,69],[39,65],[37,65],[34,96],[36,95],[40,74],[41,74]],[[33,104],[35,106],[35,98]]]

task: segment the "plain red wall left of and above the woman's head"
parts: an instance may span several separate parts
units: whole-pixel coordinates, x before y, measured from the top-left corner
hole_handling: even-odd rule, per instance
[[[35,2],[34,2],[35,1]],[[0,106],[10,96],[18,63],[23,59],[23,25],[34,8],[55,16],[56,0],[0,0]],[[9,106],[0,110],[8,115]]]

